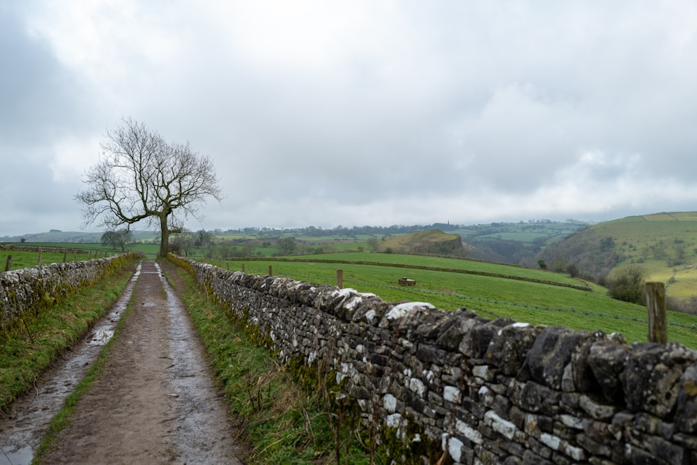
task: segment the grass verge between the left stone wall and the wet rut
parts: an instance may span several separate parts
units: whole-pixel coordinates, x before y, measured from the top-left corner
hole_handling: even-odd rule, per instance
[[[0,333],[0,414],[34,386],[66,349],[76,344],[121,296],[137,260],[92,287],[38,314],[20,333]]]

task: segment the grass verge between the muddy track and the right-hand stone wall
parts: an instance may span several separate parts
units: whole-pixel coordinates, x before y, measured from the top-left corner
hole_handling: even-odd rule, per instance
[[[206,346],[238,439],[249,445],[247,463],[383,463],[361,447],[358,412],[337,403],[316,372],[279,365],[191,275],[169,262],[163,268]]]

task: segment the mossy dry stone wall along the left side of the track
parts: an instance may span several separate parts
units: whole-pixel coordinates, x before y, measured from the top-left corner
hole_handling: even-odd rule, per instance
[[[36,313],[77,289],[89,286],[129,255],[1,272],[0,325],[11,323],[28,312]]]

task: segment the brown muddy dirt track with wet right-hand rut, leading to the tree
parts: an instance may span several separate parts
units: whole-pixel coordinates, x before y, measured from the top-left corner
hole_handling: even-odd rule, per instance
[[[142,262],[134,303],[104,376],[45,463],[243,463],[201,344],[153,260]]]

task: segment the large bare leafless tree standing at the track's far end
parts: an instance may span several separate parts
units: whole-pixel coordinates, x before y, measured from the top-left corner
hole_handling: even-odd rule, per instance
[[[141,220],[148,227],[159,223],[161,256],[167,255],[169,234],[181,231],[184,218],[202,219],[197,208],[206,197],[222,199],[210,158],[194,153],[188,143],[165,142],[132,119],[107,131],[100,161],[85,176],[86,190],[75,195],[84,226],[97,218],[112,229]]]

